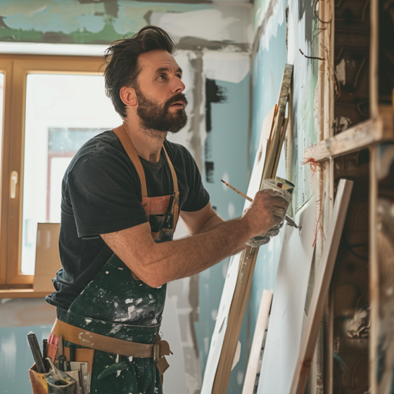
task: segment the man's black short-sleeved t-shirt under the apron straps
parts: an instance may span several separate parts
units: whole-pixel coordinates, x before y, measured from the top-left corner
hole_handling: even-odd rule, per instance
[[[209,194],[191,154],[167,140],[164,146],[177,173],[180,210],[204,208]],[[172,194],[174,186],[163,149],[158,163],[140,160],[148,196]],[[98,134],[77,151],[63,178],[59,236],[63,268],[53,279],[56,291],[47,295],[46,301],[67,310],[113,254],[99,234],[145,222],[141,184],[132,160],[114,132]]]

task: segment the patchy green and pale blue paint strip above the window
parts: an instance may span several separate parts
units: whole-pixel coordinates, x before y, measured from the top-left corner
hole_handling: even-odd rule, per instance
[[[0,41],[51,44],[110,44],[150,23],[151,13],[184,13],[210,4],[76,0],[3,0]]]

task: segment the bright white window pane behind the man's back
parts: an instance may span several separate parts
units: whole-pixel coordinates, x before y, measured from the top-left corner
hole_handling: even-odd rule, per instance
[[[122,122],[98,75],[27,75],[22,262],[34,273],[37,223],[60,222],[61,184],[86,141]]]

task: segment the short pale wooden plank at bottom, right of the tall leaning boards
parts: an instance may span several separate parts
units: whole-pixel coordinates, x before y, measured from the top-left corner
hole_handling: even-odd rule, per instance
[[[272,293],[268,290],[262,291],[262,298],[258,312],[258,320],[253,335],[252,347],[250,348],[250,356],[248,368],[246,369],[245,381],[243,382],[242,394],[253,394],[255,388],[256,376],[258,374],[258,364],[264,340],[265,330],[267,329],[269,310],[271,309]]]

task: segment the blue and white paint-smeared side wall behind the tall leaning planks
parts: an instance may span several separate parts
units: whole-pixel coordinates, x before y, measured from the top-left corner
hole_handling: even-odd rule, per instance
[[[317,141],[314,96],[317,89],[317,61],[305,58],[318,56],[319,30],[313,15],[314,1],[272,0],[255,2],[255,42],[253,44],[253,127],[250,151],[253,163],[258,148],[262,121],[277,103],[281,78],[286,63],[293,64],[293,122],[289,129],[293,134],[290,163],[286,168],[286,144],[281,153],[277,175],[295,184],[293,214],[310,199],[314,189],[314,174],[303,165],[304,149]],[[286,26],[286,6],[288,18]],[[286,30],[288,30],[286,34]],[[287,39],[286,39],[287,37]],[[288,129],[288,132],[289,132]],[[255,329],[262,291],[274,292],[275,277],[281,253],[281,234],[262,246],[256,262],[251,291],[251,334]],[[311,240],[313,242],[313,240]]]

